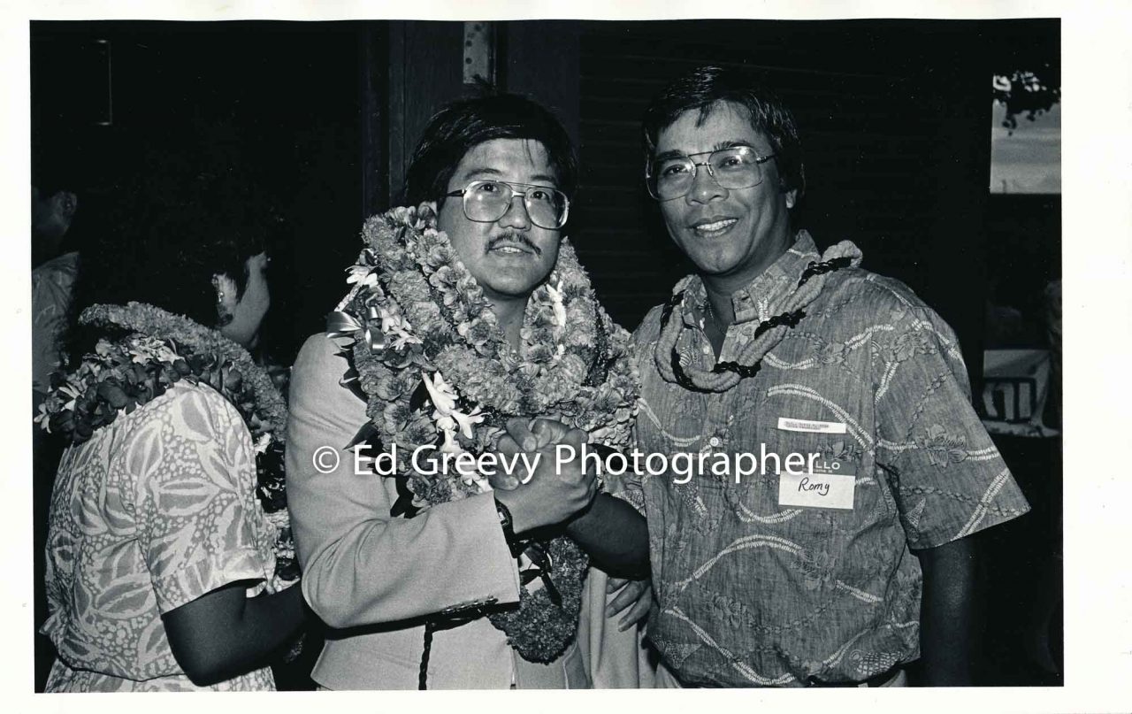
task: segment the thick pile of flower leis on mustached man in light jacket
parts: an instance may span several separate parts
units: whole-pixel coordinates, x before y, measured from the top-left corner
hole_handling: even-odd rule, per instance
[[[345,338],[343,384],[367,401],[370,422],[353,444],[397,444],[401,498],[391,515],[490,491],[482,475],[419,474],[406,454],[427,444],[440,453],[495,451],[512,417],[546,416],[585,430],[592,443],[628,445],[638,391],[629,335],[594,299],[568,243],[528,299],[516,351],[428,204],[372,216],[362,237],[348,269],[354,287],[328,332]],[[526,554],[540,568],[522,581],[541,577],[547,586],[521,588],[517,610],[488,617],[522,657],[551,662],[576,634],[589,559],[564,535]]]

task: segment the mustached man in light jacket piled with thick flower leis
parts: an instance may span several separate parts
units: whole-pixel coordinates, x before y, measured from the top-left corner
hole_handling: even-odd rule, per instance
[[[635,413],[629,337],[561,237],[575,180],[541,107],[444,109],[409,206],[367,221],[352,288],[298,357],[289,505],[303,594],[332,628],[312,673],[325,688],[636,686],[635,632],[606,627],[604,578],[586,573],[590,554],[646,561],[643,521],[595,498],[577,460],[556,468],[537,422],[620,449]],[[522,458],[508,425],[528,435]],[[637,552],[586,537],[626,516]]]

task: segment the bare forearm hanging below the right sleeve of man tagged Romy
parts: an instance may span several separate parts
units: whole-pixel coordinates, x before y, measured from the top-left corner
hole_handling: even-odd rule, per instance
[[[920,657],[925,685],[971,683],[972,592],[976,551],[970,538],[917,551],[924,570]]]

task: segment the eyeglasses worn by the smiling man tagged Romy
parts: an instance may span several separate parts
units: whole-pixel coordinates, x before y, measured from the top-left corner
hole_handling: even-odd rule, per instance
[[[696,156],[707,156],[707,161],[694,161]],[[721,188],[752,188],[763,182],[762,165],[773,158],[774,154],[760,156],[754,147],[746,145],[669,155],[649,162],[645,182],[649,195],[658,201],[680,198],[692,190],[698,167],[706,167],[707,176]]]

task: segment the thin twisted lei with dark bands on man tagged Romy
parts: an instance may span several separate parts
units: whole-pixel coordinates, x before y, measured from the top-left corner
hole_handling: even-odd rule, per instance
[[[782,341],[787,330],[794,328],[806,316],[805,308],[814,301],[825,286],[825,274],[842,267],[860,265],[861,253],[852,243],[842,240],[830,247],[818,263],[811,262],[803,271],[795,289],[782,299],[784,308],[780,314],[764,320],[755,328],[754,339],[739,349],[734,362],[720,362],[711,369],[704,369],[693,364],[685,364],[676,346],[685,324],[683,320],[672,320],[674,311],[686,309],[685,296],[689,278],[686,278],[672,289],[661,311],[660,337],[653,350],[653,360],[660,376],[667,382],[679,384],[684,389],[696,392],[726,392],[739,380],[754,376],[762,367],[763,357]],[[811,278],[816,278],[811,282]]]

